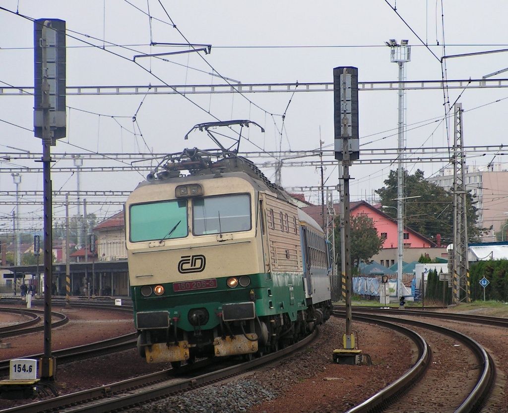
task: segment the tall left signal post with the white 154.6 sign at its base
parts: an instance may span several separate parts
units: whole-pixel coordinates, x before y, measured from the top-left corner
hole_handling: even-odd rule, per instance
[[[51,385],[56,375],[56,359],[51,354],[51,290],[53,285],[51,146],[66,135],[66,22],[59,19],[34,20],[34,131],[42,139],[44,196],[44,353],[39,359],[13,359],[9,380],[0,383],[2,397],[33,397],[44,382]],[[36,161],[37,162],[37,161]],[[34,237],[35,252],[39,238]],[[38,261],[39,262],[39,261]],[[39,271],[38,271],[39,272]],[[14,280],[16,281],[16,280]]]

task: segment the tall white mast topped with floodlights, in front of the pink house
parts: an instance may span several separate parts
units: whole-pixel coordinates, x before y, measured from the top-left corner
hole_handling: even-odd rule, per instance
[[[404,257],[404,63],[411,60],[411,47],[407,40],[402,40],[400,45],[390,39],[385,42],[391,48],[392,63],[399,66],[399,98],[398,98],[398,148],[397,148],[397,296],[401,299],[404,295],[402,288],[402,261]]]

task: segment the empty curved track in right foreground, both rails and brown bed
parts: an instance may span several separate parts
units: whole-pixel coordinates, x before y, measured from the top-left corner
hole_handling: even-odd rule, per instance
[[[392,326],[406,324],[412,328],[426,331],[421,334],[426,336],[427,340],[431,340],[433,344],[436,344],[434,350],[434,358],[436,361],[431,361],[432,358],[429,357],[425,362],[422,362],[422,365],[420,366],[420,357],[419,362],[417,362],[406,374],[382,391],[370,397],[368,400],[350,409],[348,413],[366,413],[370,411],[384,411],[387,413],[400,411],[442,411],[466,413],[475,411],[475,409],[477,409],[487,399],[490,388],[495,380],[495,366],[490,356],[477,341],[457,331],[433,324],[423,323],[416,320],[394,319],[393,317],[358,313],[359,312],[356,311],[355,307],[353,319],[385,325],[389,328],[393,328],[389,324],[392,324]],[[344,314],[344,312],[338,311],[337,309],[334,311],[334,315]],[[393,313],[391,314],[393,315]],[[418,315],[421,316],[421,314]],[[491,321],[494,322],[495,320]],[[430,334],[429,330],[431,331]],[[436,333],[441,336],[441,338],[439,338]],[[448,340],[452,342],[451,346],[454,346],[452,349],[457,350],[457,348],[460,348],[460,351],[462,352],[460,357],[464,357],[465,360],[468,360],[470,357],[474,357],[474,367],[470,367],[467,372],[470,373],[473,369],[477,371],[477,374],[475,374],[473,379],[470,379],[470,377],[464,378],[464,375],[461,376],[459,372],[452,371],[451,369],[452,366],[455,365],[454,363],[450,363],[450,366],[444,364],[446,363],[447,357],[444,357],[446,354],[443,356],[442,353],[447,350],[442,350],[442,347],[444,347],[443,344],[447,342],[447,339],[443,339],[442,335],[449,337]],[[435,355],[436,351],[441,353],[438,357]],[[451,358],[453,359],[454,357],[458,356],[454,354]],[[443,364],[442,366],[439,366],[442,367],[440,371],[436,368],[437,363]],[[464,361],[464,365],[471,366],[471,361]],[[415,368],[419,369],[418,374],[415,373],[413,376],[410,376],[409,373],[415,370]],[[450,381],[457,380],[458,377],[462,377],[462,380],[469,383],[469,388],[464,389],[464,383],[459,382],[457,383],[457,386],[454,387],[454,391],[450,392],[446,386],[443,386],[445,378],[441,376],[438,380],[436,379],[436,374],[444,374],[444,376],[448,377]],[[415,377],[418,377],[418,380],[415,380]],[[439,384],[441,384],[441,388],[444,389],[442,394],[439,393],[441,390]],[[457,391],[457,389],[460,389],[461,391]],[[435,400],[440,401],[436,402]],[[425,405],[425,403],[427,403],[427,405]],[[430,406],[428,404],[430,404]]]

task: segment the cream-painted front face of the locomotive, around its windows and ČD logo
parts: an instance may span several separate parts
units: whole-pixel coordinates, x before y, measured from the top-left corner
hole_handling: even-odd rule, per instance
[[[176,189],[181,185],[200,185],[204,197],[245,194],[249,197],[250,228],[235,232],[196,235],[193,229],[192,197],[187,200],[187,236],[171,239],[153,239],[133,242],[130,237],[130,209],[133,205],[178,199]],[[192,273],[193,280],[211,277],[257,273],[263,270],[260,230],[257,208],[260,191],[267,191],[263,183],[241,172],[171,178],[160,182],[143,182],[129,196],[125,204],[126,247],[129,258],[131,285],[185,281],[189,275],[177,271],[185,257],[202,255],[206,266]],[[272,194],[275,196],[275,194]],[[228,246],[228,248],[224,248]],[[189,264],[190,265],[190,264]]]

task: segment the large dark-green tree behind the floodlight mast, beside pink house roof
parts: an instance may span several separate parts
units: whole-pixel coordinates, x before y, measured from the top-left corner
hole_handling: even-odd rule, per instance
[[[436,235],[441,234],[444,245],[453,242],[453,195],[444,188],[424,179],[422,170],[417,169],[413,175],[403,170],[404,188],[402,196],[416,199],[406,199],[404,202],[404,226],[421,233],[435,241]],[[397,216],[397,171],[391,170],[385,180],[385,187],[376,190],[383,205],[389,207],[386,214],[393,218]],[[469,242],[480,240],[487,228],[479,228],[477,224],[477,208],[474,198],[467,194],[467,235]]]

